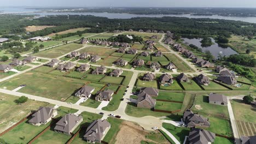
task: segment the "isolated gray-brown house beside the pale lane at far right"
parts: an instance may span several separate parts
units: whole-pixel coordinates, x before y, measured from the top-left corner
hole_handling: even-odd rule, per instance
[[[209,94],[209,103],[216,105],[228,105],[228,99],[222,94]]]

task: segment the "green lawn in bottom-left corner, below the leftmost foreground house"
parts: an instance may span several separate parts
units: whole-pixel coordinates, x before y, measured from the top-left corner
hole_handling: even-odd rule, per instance
[[[1,138],[8,143],[27,143],[50,124],[49,122],[46,125],[42,124],[38,127],[32,124],[28,124],[27,121],[20,123],[14,129],[11,129],[10,131],[8,131],[8,133],[1,136]]]

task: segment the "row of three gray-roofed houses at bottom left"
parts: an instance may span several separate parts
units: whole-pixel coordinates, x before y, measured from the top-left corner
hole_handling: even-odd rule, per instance
[[[57,110],[52,107],[39,107],[37,112],[33,113],[32,118],[28,123],[32,125],[42,125],[49,123],[54,117],[57,116]],[[66,135],[71,135],[73,131],[83,122],[83,117],[75,115],[73,113],[68,113],[63,116],[55,125],[54,131],[56,133],[62,133]],[[85,134],[83,136],[86,142],[90,143],[101,143],[104,136],[108,133],[110,129],[110,123],[106,119],[96,119],[86,128]]]

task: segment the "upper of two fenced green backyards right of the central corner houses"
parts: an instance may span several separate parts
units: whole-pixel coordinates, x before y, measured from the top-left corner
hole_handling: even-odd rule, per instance
[[[159,92],[158,97],[155,99],[162,100],[175,100],[175,101],[183,101],[185,94],[184,93],[174,93],[174,92]]]

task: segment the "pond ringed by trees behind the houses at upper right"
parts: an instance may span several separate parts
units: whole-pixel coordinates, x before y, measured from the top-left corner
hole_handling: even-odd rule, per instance
[[[230,55],[237,54],[237,52],[234,51],[233,49],[231,49],[230,47],[227,47],[227,48],[220,47],[217,43],[215,43],[215,40],[213,38],[211,38],[211,39],[212,39],[212,42],[214,44],[211,45],[211,46],[207,46],[207,47],[202,47],[201,46],[201,42],[200,42],[202,40],[201,38],[199,38],[199,39],[195,39],[195,38],[194,39],[182,38],[182,39],[184,40],[183,41],[184,44],[196,45],[197,47],[202,49],[203,52],[205,52],[206,50],[209,50],[215,58],[218,58],[219,52],[222,52],[221,53],[222,56],[230,56]]]

